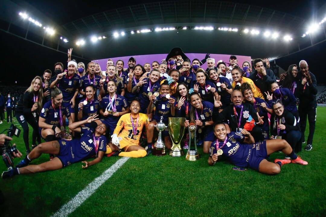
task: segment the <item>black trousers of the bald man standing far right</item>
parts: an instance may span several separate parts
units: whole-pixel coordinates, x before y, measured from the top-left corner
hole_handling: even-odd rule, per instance
[[[316,126],[316,110],[317,104],[314,106],[300,106],[299,105],[299,117],[300,117],[300,128],[301,128],[301,141],[304,142],[304,131],[307,125],[307,116],[309,122],[309,135],[307,144],[312,144],[314,138],[315,126]]]

